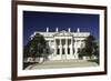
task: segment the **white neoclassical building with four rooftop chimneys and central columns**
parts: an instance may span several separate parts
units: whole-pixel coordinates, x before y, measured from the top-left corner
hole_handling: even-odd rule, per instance
[[[51,48],[52,54],[49,55],[49,60],[79,59],[78,51],[85,45],[84,39],[90,36],[90,32],[81,32],[79,28],[77,32],[71,32],[70,28],[68,31],[59,31],[57,28],[56,32],[50,32],[47,28],[46,32],[36,31],[31,38],[36,33],[42,34]]]

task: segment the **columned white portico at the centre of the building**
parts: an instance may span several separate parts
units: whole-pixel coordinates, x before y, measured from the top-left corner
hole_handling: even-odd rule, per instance
[[[61,31],[59,34],[56,34],[53,54],[60,57],[61,59],[68,59],[70,55],[73,57],[73,37],[65,31]]]

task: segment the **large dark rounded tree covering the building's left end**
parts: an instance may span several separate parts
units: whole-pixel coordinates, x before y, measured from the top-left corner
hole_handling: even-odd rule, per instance
[[[24,58],[48,57],[49,48],[43,36],[36,33],[36,36],[24,47],[23,55]]]

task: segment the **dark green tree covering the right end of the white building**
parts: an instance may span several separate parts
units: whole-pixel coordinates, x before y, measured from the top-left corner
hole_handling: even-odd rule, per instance
[[[95,38],[93,36],[89,36],[85,40],[85,47],[79,50],[79,55],[88,55],[91,57],[93,53],[99,54],[99,49],[95,42]]]

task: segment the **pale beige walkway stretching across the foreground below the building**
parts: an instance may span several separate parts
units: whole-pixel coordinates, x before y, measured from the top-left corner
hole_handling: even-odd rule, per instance
[[[46,61],[43,63],[36,63],[29,65],[26,70],[33,69],[58,69],[58,68],[80,68],[80,67],[97,67],[95,62],[88,62],[83,60],[57,60]]]

